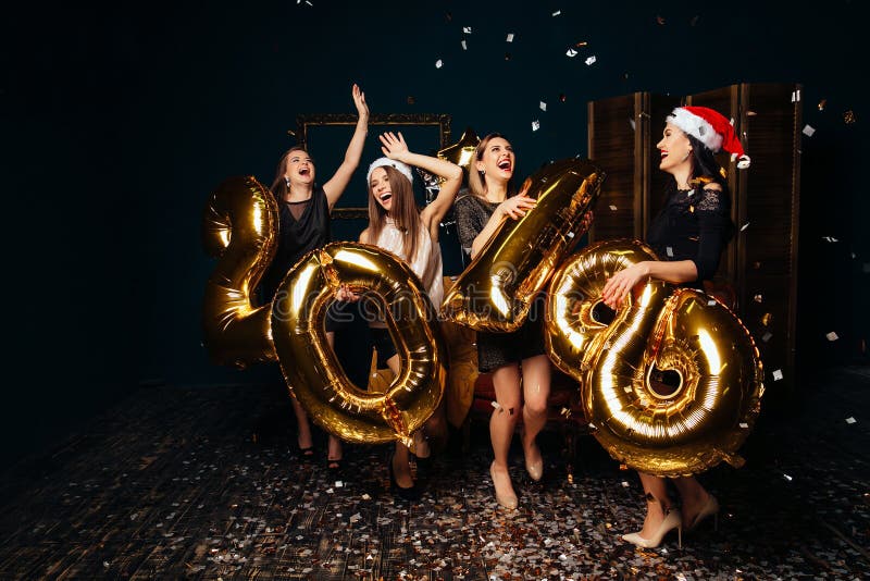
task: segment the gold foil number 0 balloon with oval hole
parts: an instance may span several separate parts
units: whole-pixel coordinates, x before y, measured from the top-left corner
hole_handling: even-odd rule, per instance
[[[340,284],[368,290],[386,313],[400,359],[386,393],[355,386],[326,343],[324,318]],[[440,403],[447,350],[435,309],[411,268],[375,246],[333,243],[306,255],[278,287],[272,335],[290,391],[318,424],[343,440],[400,440],[410,447],[410,434]]]

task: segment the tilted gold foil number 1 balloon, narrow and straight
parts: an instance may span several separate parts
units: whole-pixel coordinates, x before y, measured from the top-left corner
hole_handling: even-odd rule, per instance
[[[514,331],[532,300],[588,227],[605,174],[592,162],[560,160],[531,180],[537,199],[520,220],[506,220],[459,275],[442,310],[476,331]]]

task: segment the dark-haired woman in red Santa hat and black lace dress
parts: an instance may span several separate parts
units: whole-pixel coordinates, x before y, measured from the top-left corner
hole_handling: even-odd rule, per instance
[[[728,183],[713,153],[724,149],[749,165],[731,123],[706,107],[680,107],[668,115],[659,169],[669,173],[664,208],[652,220],[647,242],[662,260],[638,262],[617,272],[605,284],[602,299],[616,309],[629,292],[649,279],[703,289],[719,268],[722,250],[734,235]],[[635,545],[656,547],[678,529],[692,530],[719,512],[719,503],[694,478],[673,479],[681,506],[668,496],[663,478],[641,473],[647,512],[641,531],[622,537]]]

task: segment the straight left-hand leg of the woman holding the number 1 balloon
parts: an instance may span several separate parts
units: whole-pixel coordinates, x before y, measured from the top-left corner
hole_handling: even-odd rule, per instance
[[[515,506],[517,493],[510,482],[508,473],[508,453],[517,429],[520,415],[520,368],[510,363],[493,372],[493,387],[496,392],[498,408],[489,416],[489,440],[493,443],[493,484],[496,489],[496,498],[502,498]]]

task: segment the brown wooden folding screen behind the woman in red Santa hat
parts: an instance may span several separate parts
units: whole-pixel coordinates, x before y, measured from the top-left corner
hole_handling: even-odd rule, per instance
[[[785,395],[795,382],[799,85],[741,84],[686,96],[636,92],[588,103],[589,158],[607,172],[589,240],[646,238],[667,177],[655,146],[667,114],[683,104],[730,115],[751,158],[749,169],[737,170],[728,153],[719,156],[738,232],[717,275],[734,287],[737,314],[761,351],[767,387]]]

